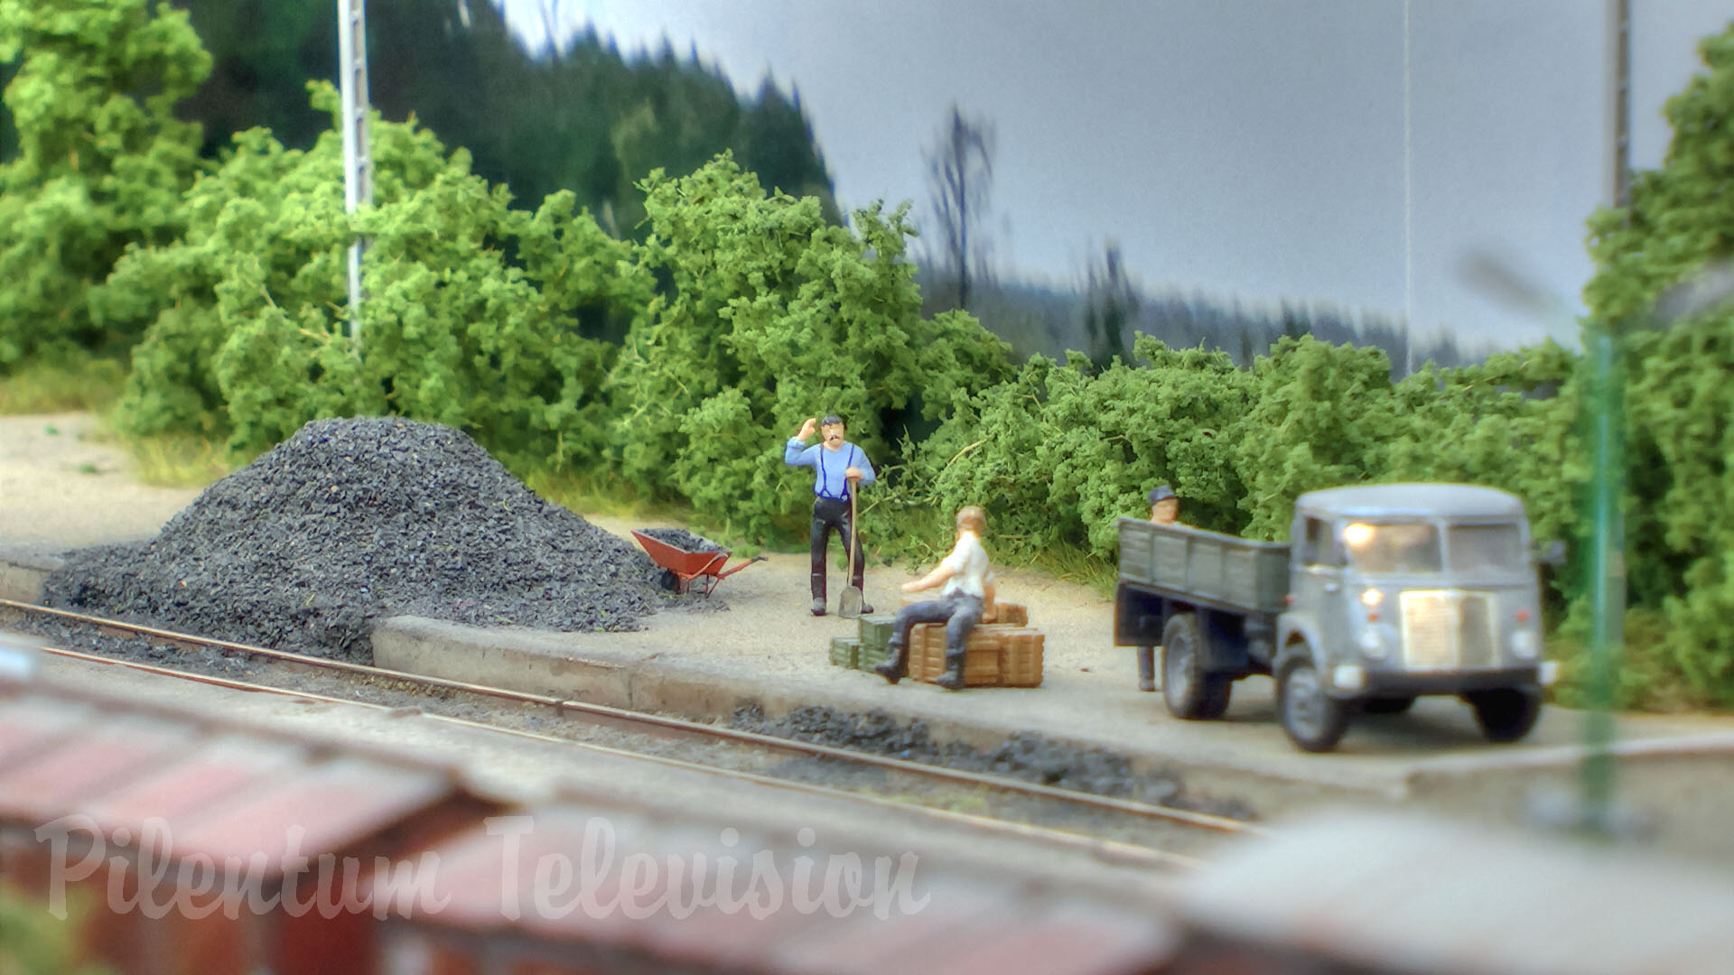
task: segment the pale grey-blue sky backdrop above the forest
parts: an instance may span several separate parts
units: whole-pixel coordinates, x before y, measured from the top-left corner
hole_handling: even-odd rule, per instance
[[[553,0],[503,0],[532,45]],[[1729,0],[1633,0],[1632,161]],[[1148,290],[1328,300],[1517,344],[1538,323],[1462,260],[1514,262],[1576,304],[1611,193],[1604,0],[560,0],[623,52],[697,50],[751,94],[794,90],[844,210],[910,200],[955,101],[997,134],[1002,274],[1077,283],[1105,241]],[[1405,75],[1410,167],[1405,175]],[[1408,220],[1408,224],[1406,224]],[[1411,245],[1411,246],[1410,246]]]

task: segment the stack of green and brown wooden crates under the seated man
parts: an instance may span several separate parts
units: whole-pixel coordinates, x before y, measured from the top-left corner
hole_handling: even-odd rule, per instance
[[[978,623],[964,642],[966,687],[1040,687],[1042,644],[1039,630],[1028,626],[1028,611],[1016,602],[997,602],[994,623]],[[831,640],[831,663],[855,670],[872,670],[888,656],[891,612],[860,618],[857,637]],[[933,684],[945,673],[945,625],[917,623],[909,628],[909,677]]]

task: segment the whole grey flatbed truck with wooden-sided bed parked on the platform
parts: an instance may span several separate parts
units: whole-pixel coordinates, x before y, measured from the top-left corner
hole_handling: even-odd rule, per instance
[[[1278,718],[1330,751],[1356,713],[1460,696],[1490,741],[1529,734],[1554,664],[1522,501],[1470,484],[1370,484],[1295,501],[1290,541],[1120,519],[1115,644],[1162,647],[1179,718],[1276,678]]]

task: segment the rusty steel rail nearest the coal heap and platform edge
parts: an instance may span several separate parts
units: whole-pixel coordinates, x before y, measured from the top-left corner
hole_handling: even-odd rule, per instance
[[[631,711],[626,708],[612,708],[609,704],[593,704],[588,701],[572,701],[564,697],[555,697],[548,694],[529,694],[522,690],[508,690],[503,687],[489,687],[482,684],[466,684],[461,680],[447,680],[440,677],[427,677],[420,673],[409,673],[401,670],[388,670],[368,664],[355,664],[347,661],[333,661],[326,658],[312,658],[305,654],[293,654],[286,651],[272,651],[269,647],[257,647],[251,644],[236,644],[231,640],[217,640],[206,637],[196,637],[191,633],[177,633],[173,630],[161,630],[156,626],[146,626],[140,623],[125,623],[118,619],[104,619],[99,616],[87,616],[81,612],[71,612],[64,609],[52,609],[45,605],[35,605],[26,602],[14,602],[9,599],[0,599],[0,607],[17,609],[24,612],[40,612],[95,626],[101,630],[109,630],[111,633],[127,635],[147,635],[158,640],[182,645],[182,647],[215,647],[227,652],[241,652],[260,656],[267,659],[276,659],[283,663],[291,663],[298,666],[310,666],[321,670],[331,670],[338,673],[350,673],[364,677],[369,680],[397,680],[404,684],[416,684],[423,687],[434,687],[440,690],[456,690],[463,694],[477,694],[486,697],[498,697],[503,701],[520,703],[520,704],[538,704],[544,708],[553,708],[560,713],[577,713],[586,715],[607,723],[626,725],[633,730],[642,730],[643,727],[659,729],[664,732],[675,732],[678,736],[687,736],[694,739],[721,739],[737,744],[747,744],[753,748],[763,748],[772,751],[784,751],[810,758],[829,758],[836,762],[850,762],[857,765],[867,765],[876,769],[884,769],[890,772],[902,772],[909,775],[948,781],[955,784],[978,786],[985,789],[997,789],[1004,793],[1018,793],[1037,798],[1049,798],[1056,802],[1066,802],[1077,807],[1096,808],[1103,812],[1118,812],[1125,815],[1138,815],[1143,819],[1157,819],[1167,822],[1179,822],[1184,826],[1195,826],[1200,829],[1212,829],[1217,833],[1243,833],[1254,836],[1271,836],[1273,833],[1262,826],[1255,826],[1240,819],[1229,819],[1226,815],[1210,815],[1203,812],[1191,812],[1181,808],[1169,808],[1160,805],[1139,803],[1113,796],[1099,796],[1094,793],[1082,793],[1077,789],[1061,789],[1056,786],[1044,786],[1040,782],[1027,782],[1023,779],[1013,779],[1007,775],[994,775],[987,772],[966,772],[961,769],[947,769],[943,765],[928,765],[922,762],[905,762],[900,758],[888,758],[883,755],[870,755],[865,751],[853,751],[848,748],[836,748],[829,744],[817,744],[806,741],[796,741],[779,736],[768,736],[759,732],[747,732],[739,729],[721,729],[714,725],[706,725],[701,722],[690,722],[685,718],[671,718],[664,715],[649,715],[643,711]]]

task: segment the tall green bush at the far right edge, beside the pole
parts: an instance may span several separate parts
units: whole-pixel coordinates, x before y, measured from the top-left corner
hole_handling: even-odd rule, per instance
[[[1734,255],[1734,26],[1703,42],[1706,73],[1668,99],[1661,168],[1637,173],[1630,205],[1590,219],[1594,317],[1651,321],[1658,302]],[[1666,312],[1666,302],[1663,302]],[[1703,699],[1734,704],[1734,307],[1727,302],[1626,350],[1630,599],[1658,609],[1672,670]]]

